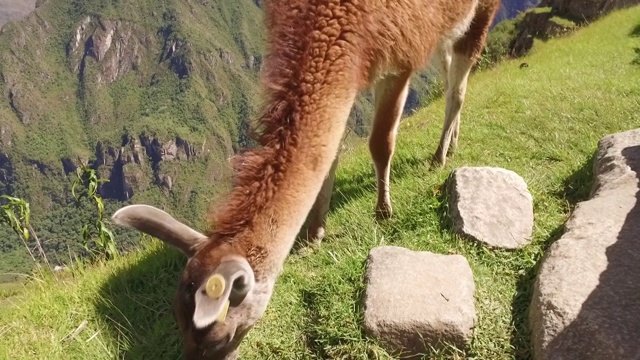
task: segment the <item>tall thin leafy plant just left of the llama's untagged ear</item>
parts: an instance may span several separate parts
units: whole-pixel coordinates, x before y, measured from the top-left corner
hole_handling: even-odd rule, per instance
[[[98,179],[94,169],[82,164],[76,169],[76,179],[71,187],[71,193],[76,201],[81,201],[83,198],[93,201],[98,212],[98,218],[92,224],[85,224],[82,228],[84,248],[93,255],[113,259],[118,255],[118,250],[113,232],[107,228],[103,221],[104,203],[98,194],[100,183],[108,181],[107,179]],[[80,191],[76,192],[76,188],[80,188]],[[97,251],[90,249],[89,245],[92,242],[97,247]]]

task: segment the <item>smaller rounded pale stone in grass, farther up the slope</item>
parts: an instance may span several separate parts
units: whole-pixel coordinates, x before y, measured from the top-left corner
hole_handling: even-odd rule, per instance
[[[515,249],[533,232],[533,199],[516,173],[462,167],[447,184],[454,231],[492,247]]]

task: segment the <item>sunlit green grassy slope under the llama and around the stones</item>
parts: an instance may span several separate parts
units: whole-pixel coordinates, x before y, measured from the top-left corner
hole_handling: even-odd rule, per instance
[[[587,197],[591,157],[608,133],[640,124],[640,7],[615,12],[569,38],[536,44],[528,68],[506,62],[474,75],[461,148],[445,169],[424,162],[436,147],[444,102],[404,120],[392,169],[395,216],[372,219],[374,179],[366,146],[344,154],[326,242],[291,255],[243,359],[389,358],[360,329],[362,275],[382,244],[463,254],[476,280],[478,325],[470,349],[449,358],[530,356],[526,308],[543,250],[561,234],[572,204]],[[533,242],[492,251],[452,235],[441,192],[458,166],[500,166],[524,177],[534,197]],[[60,279],[34,279],[0,305],[0,357],[113,359],[179,357],[171,315],[175,251],[147,242],[139,252]],[[13,304],[12,306],[8,304]],[[63,340],[84,320],[86,328]],[[433,356],[444,358],[444,355]]]

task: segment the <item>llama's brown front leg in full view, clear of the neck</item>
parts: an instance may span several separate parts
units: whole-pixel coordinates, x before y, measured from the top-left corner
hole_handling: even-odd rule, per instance
[[[369,137],[369,151],[376,169],[378,219],[387,219],[393,212],[389,195],[389,173],[410,77],[411,72],[388,76],[376,84],[375,88],[376,110]]]

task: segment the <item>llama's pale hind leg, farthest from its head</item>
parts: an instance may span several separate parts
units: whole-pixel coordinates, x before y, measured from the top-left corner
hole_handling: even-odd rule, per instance
[[[454,52],[448,73],[446,88],[446,110],[440,144],[434,155],[434,163],[442,166],[446,162],[449,146],[458,146],[460,133],[460,112],[467,91],[467,80],[473,66],[473,60],[466,55]]]

